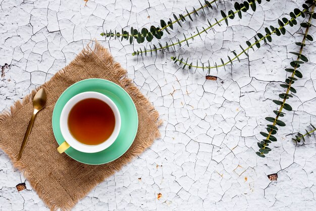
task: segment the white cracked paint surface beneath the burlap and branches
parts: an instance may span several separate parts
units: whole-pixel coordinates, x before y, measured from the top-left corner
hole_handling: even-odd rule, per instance
[[[231,9],[235,1],[219,3]],[[276,1],[257,7],[202,35],[190,47],[177,51],[184,57],[220,63],[220,57],[245,41],[262,27],[277,26],[277,19],[288,17],[303,1]],[[198,7],[195,1],[135,0],[99,1],[22,1],[0,2],[0,111],[23,98],[36,86],[49,80],[91,39],[104,40],[102,30],[131,26],[141,28],[181,13],[185,7]],[[188,10],[189,10],[188,9]],[[206,10],[207,18],[221,17],[218,10]],[[193,32],[190,26],[206,25],[205,17],[183,24],[180,32]],[[302,18],[298,19],[302,21]],[[289,27],[287,27],[289,29]],[[267,158],[255,155],[260,131],[273,116],[271,103],[285,79],[301,41],[299,26],[290,33],[273,36],[273,42],[249,51],[249,59],[235,62],[226,71],[211,71],[217,81],[205,80],[205,73],[182,70],[170,56],[136,58],[127,41],[101,41],[115,59],[128,70],[141,92],[149,98],[165,120],[162,138],[121,171],[100,183],[73,210],[314,210],[316,200],[315,138],[295,146],[290,139],[308,124],[316,124],[315,44],[307,46],[303,78],[289,102],[293,112],[282,120],[287,126],[277,134],[279,141]],[[294,36],[293,36],[294,34]],[[316,38],[314,27],[310,34]],[[171,34],[173,37],[175,34]],[[180,38],[182,35],[180,35]],[[6,65],[8,64],[8,66]],[[267,175],[278,173],[278,181]],[[26,190],[16,185],[26,182]],[[162,197],[157,199],[157,194]],[[0,151],[0,210],[48,210],[28,181]]]

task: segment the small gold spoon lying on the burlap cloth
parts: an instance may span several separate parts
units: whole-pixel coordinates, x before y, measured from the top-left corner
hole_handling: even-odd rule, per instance
[[[36,116],[38,111],[40,111],[42,108],[44,108],[45,104],[46,104],[46,93],[45,93],[45,90],[43,88],[41,88],[40,90],[37,91],[37,93],[35,94],[35,96],[33,98],[34,112],[33,112],[33,115],[31,117],[31,120],[29,122],[29,125],[27,126],[27,130],[26,130],[26,133],[24,135],[22,146],[21,146],[21,149],[20,149],[20,152],[18,155],[18,160],[21,158],[22,152],[23,152],[24,147],[26,145],[26,141],[31,133],[35,116]]]

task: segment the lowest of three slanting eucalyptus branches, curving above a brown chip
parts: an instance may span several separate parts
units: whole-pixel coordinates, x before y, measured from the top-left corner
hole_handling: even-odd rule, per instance
[[[271,35],[276,34],[276,35],[280,36],[281,34],[285,34],[286,30],[285,30],[284,27],[285,27],[286,25],[290,25],[291,27],[292,27],[293,25],[296,25],[296,24],[297,24],[296,18],[299,17],[299,16],[304,16],[304,17],[305,17],[304,13],[305,13],[306,11],[308,11],[308,10],[304,9],[303,11],[300,11],[299,9],[295,9],[294,12],[291,12],[291,13],[290,13],[290,16],[291,16],[291,19],[290,19],[290,20],[288,20],[287,18],[282,18],[282,21],[281,21],[281,20],[278,20],[279,27],[270,26],[270,28],[271,28],[272,31],[270,31],[270,29],[269,29],[268,27],[266,27],[266,28],[265,28],[266,35],[262,35],[261,33],[257,33],[257,34],[256,34],[257,37],[254,36],[254,39],[255,39],[255,42],[254,42],[254,43],[251,44],[249,40],[246,41],[246,44],[247,44],[248,47],[245,48],[245,49],[244,49],[241,45],[239,45],[239,47],[240,47],[240,49],[241,49],[242,51],[241,51],[239,54],[236,54],[235,51],[232,51],[232,53],[234,54],[234,57],[230,58],[230,56],[227,56],[227,57],[228,57],[228,60],[229,60],[229,61],[227,61],[227,62],[224,62],[224,60],[221,59],[221,63],[222,63],[222,64],[220,64],[220,65],[217,65],[217,64],[216,64],[216,65],[214,65],[214,66],[210,66],[210,65],[209,65],[209,61],[207,61],[207,62],[205,62],[205,63],[202,63],[201,65],[198,65],[198,61],[196,61],[196,65],[193,65],[193,62],[190,63],[190,64],[188,64],[188,63],[186,62],[186,60],[184,60],[183,58],[180,58],[180,56],[178,56],[178,58],[177,58],[177,57],[171,57],[171,59],[172,59],[173,61],[175,61],[175,63],[178,62],[179,64],[183,64],[183,67],[188,66],[189,69],[191,69],[191,68],[196,68],[196,69],[197,69],[197,68],[200,68],[200,69],[208,69],[208,73],[209,73],[210,69],[214,69],[214,68],[217,69],[217,68],[223,67],[223,66],[224,66],[224,68],[225,68],[225,66],[228,65],[228,64],[233,65],[233,61],[236,60],[236,59],[240,62],[239,57],[240,57],[242,54],[245,54],[247,57],[249,57],[249,55],[247,54],[247,51],[248,51],[249,49],[253,49],[254,46],[256,46],[257,48],[260,48],[260,47],[261,47],[261,46],[260,46],[260,42],[261,42],[262,40],[264,40],[264,43],[266,44],[266,43],[267,43],[267,40],[268,40],[269,42],[272,41]],[[254,49],[253,49],[253,51],[254,51]]]

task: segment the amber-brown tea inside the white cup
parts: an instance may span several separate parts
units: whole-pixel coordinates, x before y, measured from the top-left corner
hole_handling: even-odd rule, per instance
[[[82,144],[100,144],[114,131],[114,112],[107,103],[99,99],[81,100],[69,112],[68,128],[71,135]]]

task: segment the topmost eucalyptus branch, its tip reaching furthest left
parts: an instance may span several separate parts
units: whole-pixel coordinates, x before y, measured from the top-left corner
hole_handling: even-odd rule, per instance
[[[203,12],[205,14],[204,8],[213,9],[212,4],[213,3],[216,4],[217,1],[219,1],[219,0],[213,0],[212,2],[208,2],[207,0],[204,0],[204,5],[202,5],[201,2],[199,1],[200,7],[197,9],[195,9],[193,7],[192,12],[189,13],[188,10],[185,9],[186,14],[184,14],[184,15],[179,14],[179,17],[177,17],[175,14],[173,14],[173,17],[175,19],[174,21],[172,21],[171,18],[169,18],[169,21],[167,23],[164,20],[160,20],[161,27],[150,26],[149,30],[147,28],[142,28],[141,31],[138,31],[137,29],[134,29],[133,27],[131,27],[130,32],[123,30],[123,29],[121,32],[117,32],[116,30],[115,31],[112,31],[112,30],[108,31],[107,30],[106,32],[102,32],[100,35],[110,37],[110,39],[111,39],[111,37],[114,37],[115,39],[121,37],[121,41],[124,38],[127,40],[129,39],[130,44],[132,44],[133,39],[136,39],[137,43],[143,43],[145,41],[145,38],[147,41],[151,41],[153,39],[153,37],[155,37],[157,39],[161,39],[162,36],[164,35],[164,33],[163,33],[164,30],[166,30],[167,33],[169,33],[169,30],[173,29],[173,24],[175,24],[175,23],[178,23],[178,25],[180,27],[182,27],[180,20],[182,22],[184,22],[184,21],[186,21],[186,19],[185,19],[186,17],[188,17],[191,21],[193,21],[193,18],[191,17],[191,15],[195,14],[198,16],[197,12],[199,10],[203,10]]]

